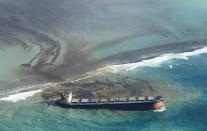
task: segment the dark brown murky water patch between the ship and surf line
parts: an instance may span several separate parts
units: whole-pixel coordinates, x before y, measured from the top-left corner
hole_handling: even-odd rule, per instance
[[[71,91],[74,97],[117,97],[117,96],[151,96],[156,90],[146,80],[120,77],[99,76],[77,82],[65,82],[55,88],[47,88],[42,96],[45,99],[58,98],[61,91]]]

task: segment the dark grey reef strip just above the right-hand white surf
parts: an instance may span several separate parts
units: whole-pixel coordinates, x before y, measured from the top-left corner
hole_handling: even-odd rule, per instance
[[[107,61],[108,63],[133,63],[139,62],[146,59],[155,58],[162,54],[169,53],[182,53],[187,51],[193,51],[207,46],[207,40],[197,40],[197,41],[184,41],[177,43],[169,43],[164,45],[157,45],[153,47],[131,50],[116,55],[108,56],[102,61]]]

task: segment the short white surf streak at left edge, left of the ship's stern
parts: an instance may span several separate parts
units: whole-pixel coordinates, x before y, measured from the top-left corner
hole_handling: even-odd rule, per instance
[[[0,98],[0,100],[3,101],[9,101],[9,102],[17,102],[19,100],[25,100],[27,97],[33,96],[36,93],[42,92],[41,89],[33,90],[33,91],[27,91],[23,93],[18,93],[14,95],[9,95],[8,97]]]

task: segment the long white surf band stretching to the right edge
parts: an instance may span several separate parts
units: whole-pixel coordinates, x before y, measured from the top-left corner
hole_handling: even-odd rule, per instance
[[[197,50],[194,50],[191,52],[164,54],[164,55],[152,58],[152,59],[143,60],[143,61],[136,62],[136,63],[128,63],[128,64],[121,64],[121,65],[109,65],[109,66],[104,67],[104,69],[101,69],[101,70],[116,73],[121,70],[127,70],[127,71],[133,70],[138,67],[159,67],[164,62],[167,62],[172,59],[188,60],[189,57],[191,57],[191,56],[205,54],[205,53],[207,53],[207,47],[197,49]]]

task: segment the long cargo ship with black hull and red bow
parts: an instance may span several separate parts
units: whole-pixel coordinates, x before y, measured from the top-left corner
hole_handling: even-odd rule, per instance
[[[73,109],[109,109],[122,111],[159,110],[164,107],[162,96],[112,97],[112,98],[73,98],[71,93],[61,93],[55,104]]]

